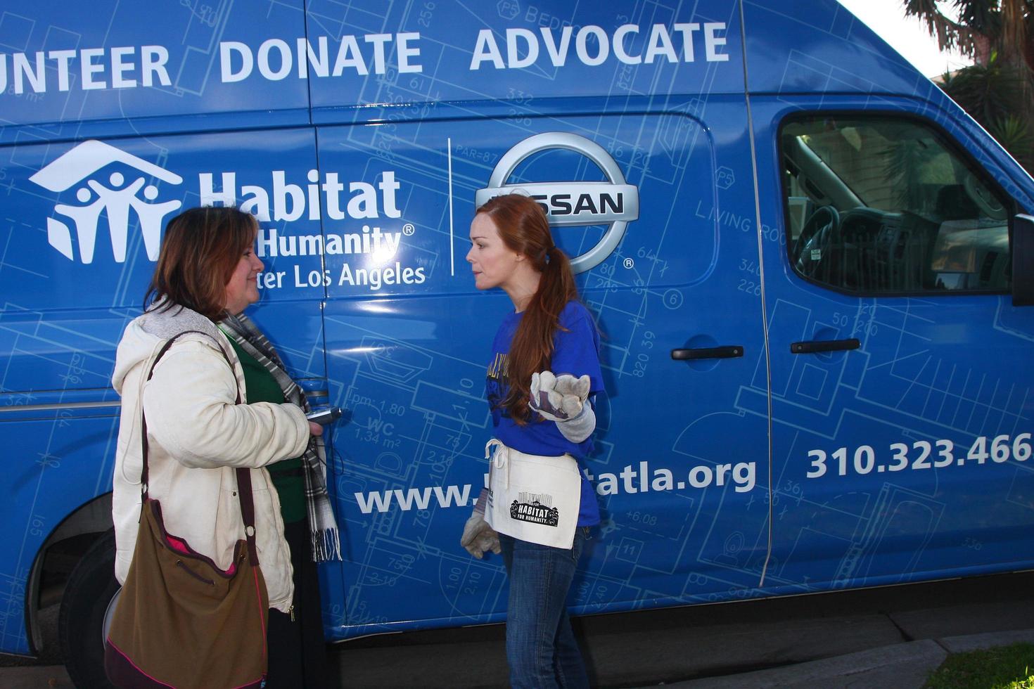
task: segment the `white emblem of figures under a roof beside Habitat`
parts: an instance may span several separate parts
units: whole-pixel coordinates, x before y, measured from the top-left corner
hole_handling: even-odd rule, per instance
[[[119,163],[120,168],[128,167],[131,169],[124,173],[115,169],[108,175],[103,182],[90,179],[114,163]],[[130,176],[128,179],[127,174]],[[139,177],[136,177],[138,175]],[[103,178],[99,175],[97,177]],[[136,179],[132,180],[132,177],[136,177]],[[108,216],[108,231],[112,238],[112,252],[115,260],[119,263],[125,261],[130,209],[139,221],[140,231],[144,237],[144,246],[147,249],[147,257],[151,260],[158,260],[158,249],[161,244],[161,221],[166,215],[182,206],[182,201],[179,200],[155,202],[158,197],[158,188],[153,184],[153,181],[160,180],[170,184],[180,184],[183,182],[183,178],[97,140],[80,144],[30,177],[29,180],[55,192],[66,191],[79,185],[79,189],[75,190],[75,198],[81,205],[58,203],[54,210],[70,219],[74,225],[79,257],[84,263],[93,262],[93,250],[97,243],[97,225],[101,213],[105,213]],[[60,251],[66,258],[75,260],[72,253],[71,229],[65,222],[48,218],[47,239],[51,246]]]

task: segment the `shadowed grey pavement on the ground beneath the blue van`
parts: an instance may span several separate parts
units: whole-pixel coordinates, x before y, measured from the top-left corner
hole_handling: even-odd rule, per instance
[[[1034,643],[1034,573],[575,620],[602,688],[918,689],[949,653]],[[339,687],[501,687],[501,625],[329,647]],[[70,687],[60,665],[0,686]]]

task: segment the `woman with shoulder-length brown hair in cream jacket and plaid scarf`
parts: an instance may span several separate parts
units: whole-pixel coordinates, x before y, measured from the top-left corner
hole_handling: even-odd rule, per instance
[[[339,557],[338,533],[317,439],[323,429],[306,419],[305,396],[242,313],[258,301],[257,229],[254,217],[236,208],[195,208],[173,218],[144,314],[119,342],[115,574],[125,583],[136,545],[142,433],[146,490],[160,502],[164,528],[220,571],[233,571],[235,545],[245,536],[236,470],[248,468],[270,606],[266,686],[318,687],[326,649],[313,560]],[[195,660],[230,662],[218,648]]]

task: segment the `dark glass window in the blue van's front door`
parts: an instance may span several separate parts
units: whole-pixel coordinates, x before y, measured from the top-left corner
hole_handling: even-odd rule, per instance
[[[1008,212],[932,127],[796,119],[781,135],[790,263],[848,292],[1004,291]]]

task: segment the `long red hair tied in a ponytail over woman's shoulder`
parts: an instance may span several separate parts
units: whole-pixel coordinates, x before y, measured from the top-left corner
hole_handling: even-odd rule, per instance
[[[478,209],[498,229],[499,238],[511,251],[523,254],[542,274],[539,288],[524,310],[524,317],[510,343],[507,370],[510,392],[500,402],[518,425],[528,421],[531,412],[531,374],[550,368],[553,336],[560,327],[560,311],[568,302],[578,300],[578,288],[571,272],[571,261],[553,243],[546,212],[535,199],[520,194],[495,196]]]

